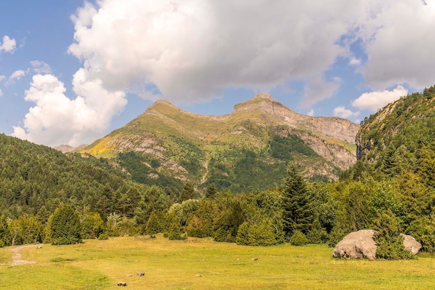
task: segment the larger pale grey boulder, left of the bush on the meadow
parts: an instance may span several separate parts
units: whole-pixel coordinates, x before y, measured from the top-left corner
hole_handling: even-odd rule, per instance
[[[361,229],[345,236],[334,248],[335,258],[376,259],[376,243],[373,229]]]

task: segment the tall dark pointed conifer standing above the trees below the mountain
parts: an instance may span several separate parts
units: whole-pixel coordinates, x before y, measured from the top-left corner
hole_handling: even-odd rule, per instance
[[[310,193],[296,163],[290,162],[287,174],[283,188],[284,232],[287,236],[295,230],[305,234],[313,221]]]

